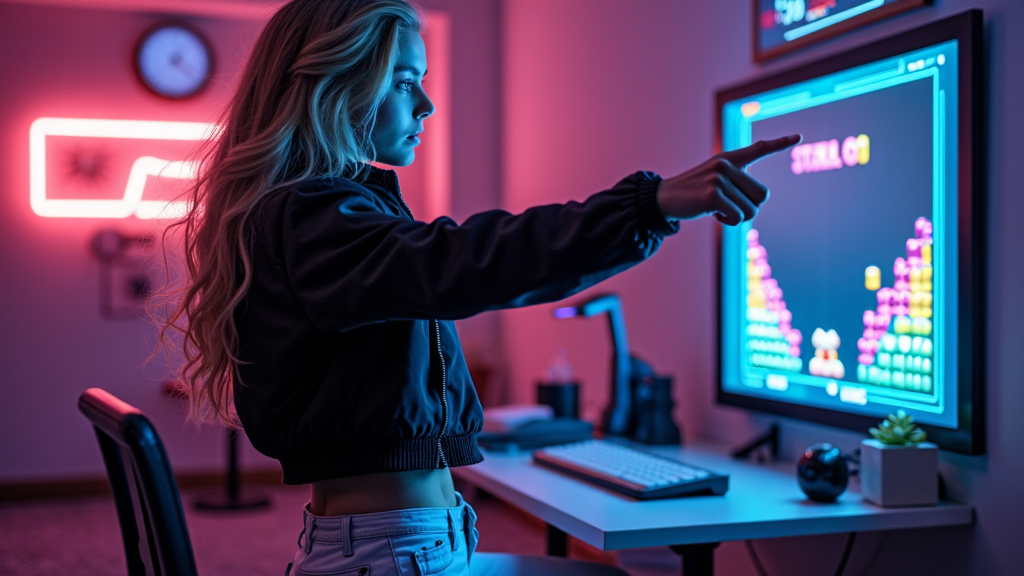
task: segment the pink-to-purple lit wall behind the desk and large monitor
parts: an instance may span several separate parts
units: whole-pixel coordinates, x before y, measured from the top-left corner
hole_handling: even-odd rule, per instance
[[[504,201],[509,209],[583,199],[638,169],[673,174],[713,147],[714,91],[963,11],[986,13],[989,314],[988,454],[943,453],[947,497],[974,505],[972,528],[864,534],[848,574],[1018,574],[1024,494],[1024,393],[1017,362],[1024,281],[1017,263],[1024,200],[1017,172],[1024,150],[1024,2],[937,0],[818,44],[770,66],[752,61],[750,0],[508,0],[504,3]],[[687,222],[650,261],[594,289],[621,292],[634,351],[676,376],[678,416],[690,438],[738,444],[772,418],[717,407],[713,393],[716,311],[711,221]],[[535,379],[559,345],[584,380],[585,407],[605,401],[603,324],[550,319],[551,306],[503,313],[513,395],[532,398]],[[852,449],[858,435],[782,420],[787,457],[815,442]],[[771,574],[826,574],[844,537],[759,542]],[[740,543],[719,548],[719,572],[753,574]]]

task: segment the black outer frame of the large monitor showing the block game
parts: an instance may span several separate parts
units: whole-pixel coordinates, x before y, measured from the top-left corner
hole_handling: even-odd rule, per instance
[[[955,429],[923,425],[929,441],[940,448],[964,454],[983,454],[985,451],[985,333],[984,333],[984,170],[980,164],[983,156],[982,114],[982,12],[969,10],[890,38],[828,56],[780,74],[759,78],[731,86],[716,93],[717,130],[716,153],[722,151],[722,111],[726,102],[780,88],[798,82],[870,64],[941,42],[958,41],[958,141],[957,150],[957,231],[959,236],[957,265],[958,286],[958,370],[957,393],[959,407],[958,426]],[[722,233],[716,229],[716,298],[718,324],[722,325]],[[722,382],[722,337],[717,334],[717,402],[827,424],[860,430],[879,423],[877,416],[863,416],[777,402],[726,392]]]

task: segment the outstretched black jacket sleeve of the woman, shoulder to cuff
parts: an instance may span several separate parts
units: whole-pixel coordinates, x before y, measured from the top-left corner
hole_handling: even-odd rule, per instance
[[[280,210],[285,273],[325,331],[387,320],[456,320],[564,298],[651,254],[678,224],[660,177],[638,172],[584,202],[490,210],[461,224],[381,211],[366,189],[290,193]]]

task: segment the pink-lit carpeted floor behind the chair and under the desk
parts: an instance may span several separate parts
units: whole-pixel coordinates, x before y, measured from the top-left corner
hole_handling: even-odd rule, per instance
[[[295,552],[302,528],[306,488],[261,489],[269,508],[246,512],[202,512],[185,491],[185,516],[200,574],[281,576]],[[467,494],[479,516],[480,550],[544,554],[544,525],[501,501]],[[569,556],[617,564],[633,576],[679,574],[679,560],[667,549],[602,552],[570,539]],[[114,576],[125,574],[124,551],[114,501],[87,497],[0,505],[0,575]]]

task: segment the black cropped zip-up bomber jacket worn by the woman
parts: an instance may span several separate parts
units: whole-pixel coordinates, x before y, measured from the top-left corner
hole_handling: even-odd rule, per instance
[[[390,170],[276,190],[249,221],[234,406],[285,484],[482,459],[454,320],[558,300],[678,224],[637,172],[585,202],[416,221]]]

